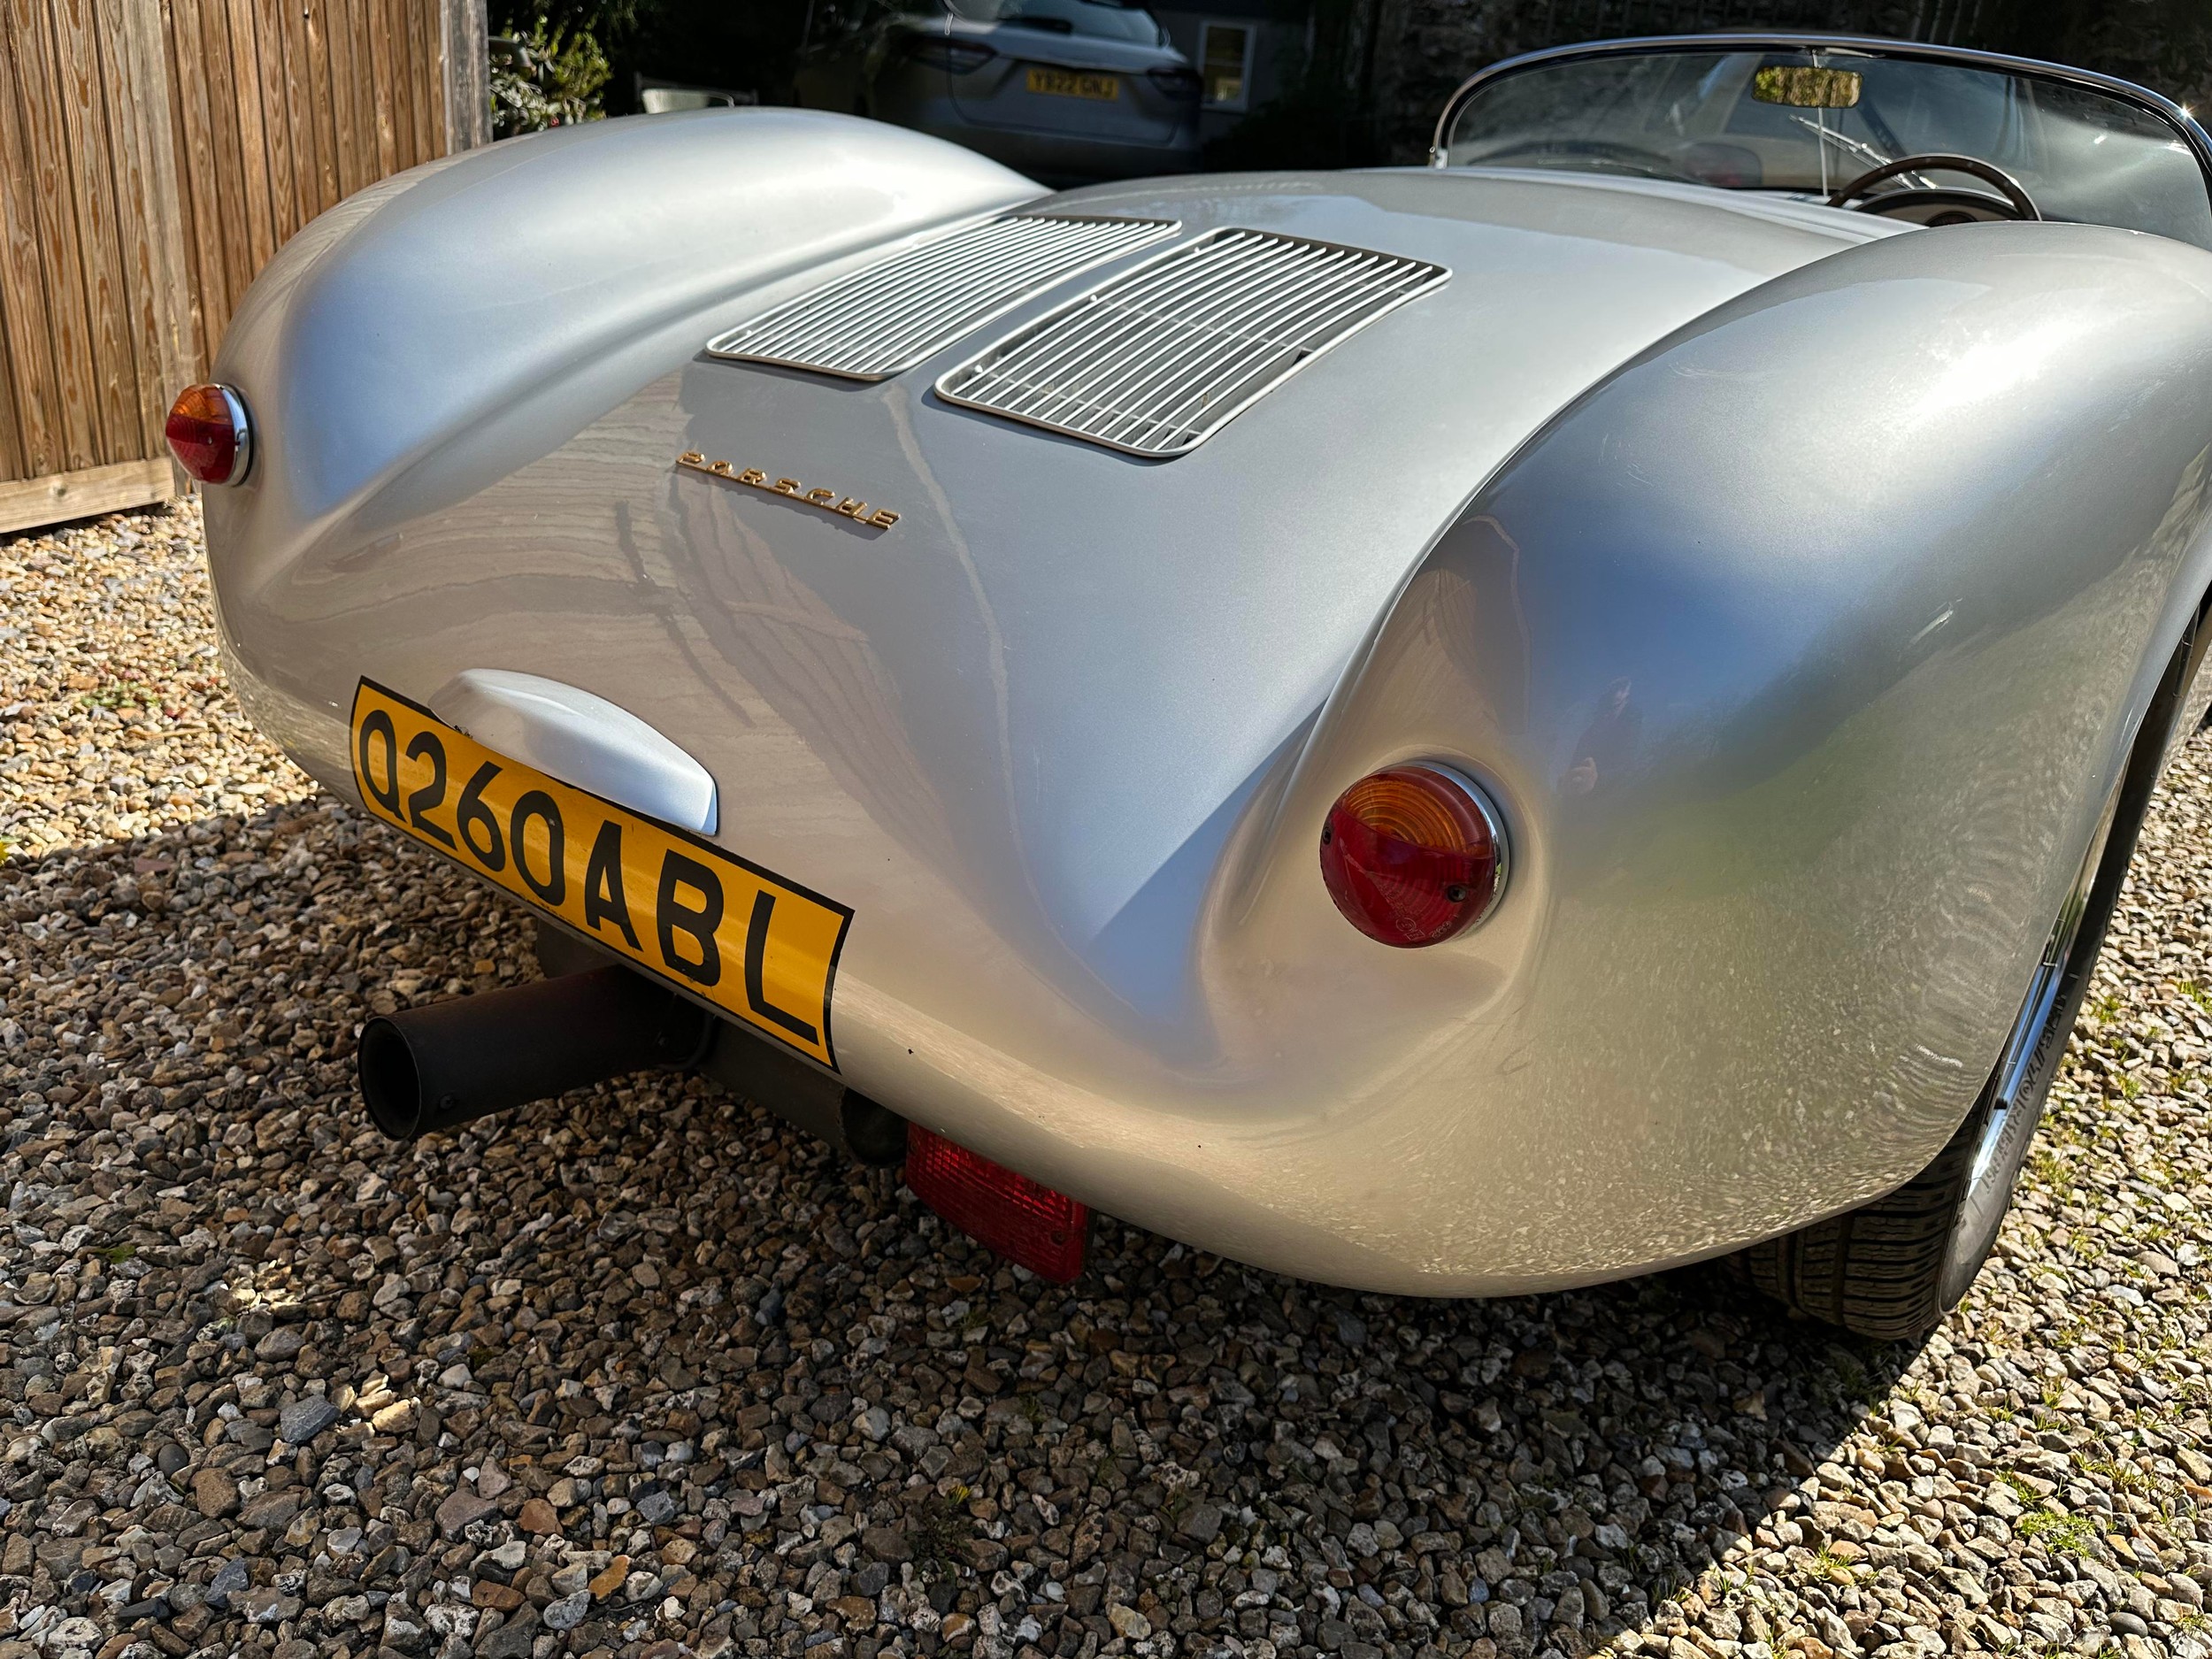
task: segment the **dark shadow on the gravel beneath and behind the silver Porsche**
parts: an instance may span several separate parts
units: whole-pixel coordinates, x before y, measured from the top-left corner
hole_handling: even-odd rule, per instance
[[[312,796],[0,865],[0,1597],[49,1655],[55,1617],[285,1659],[1936,1624],[1851,1588],[1871,1511],[1796,1491],[1911,1354],[1714,1272],[1420,1303],[1102,1221],[1053,1287],[675,1077],[396,1148],[358,1022],[529,978],[531,927]],[[1832,1628],[1712,1571],[1763,1522]]]

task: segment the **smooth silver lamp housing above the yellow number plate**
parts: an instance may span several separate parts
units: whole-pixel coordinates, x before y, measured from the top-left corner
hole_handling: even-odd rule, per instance
[[[484,748],[630,812],[703,836],[721,823],[708,770],[604,697],[542,675],[465,668],[429,710]]]

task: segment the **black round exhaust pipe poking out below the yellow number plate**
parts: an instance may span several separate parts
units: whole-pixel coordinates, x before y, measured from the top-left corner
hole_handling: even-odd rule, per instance
[[[396,1141],[648,1066],[690,1066],[712,1018],[622,967],[380,1013],[361,1029],[361,1097]]]

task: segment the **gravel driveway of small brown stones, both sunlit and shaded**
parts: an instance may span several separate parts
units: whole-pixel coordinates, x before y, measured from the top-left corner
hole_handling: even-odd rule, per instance
[[[529,927],[246,728],[197,538],[0,542],[0,1659],[2212,1650],[2212,745],[1918,1349],[1060,1290],[699,1082],[372,1133],[358,1022]]]

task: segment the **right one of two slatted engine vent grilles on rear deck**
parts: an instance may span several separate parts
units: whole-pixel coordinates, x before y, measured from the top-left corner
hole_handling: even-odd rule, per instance
[[[1181,456],[1449,276],[1367,248],[1214,230],[1015,330],[945,374],[938,396],[1130,456]]]

